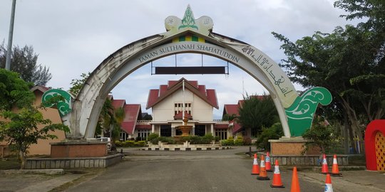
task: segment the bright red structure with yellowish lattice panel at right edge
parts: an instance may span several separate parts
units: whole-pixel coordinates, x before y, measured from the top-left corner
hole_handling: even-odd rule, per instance
[[[370,122],[365,132],[366,169],[385,171],[385,119]]]

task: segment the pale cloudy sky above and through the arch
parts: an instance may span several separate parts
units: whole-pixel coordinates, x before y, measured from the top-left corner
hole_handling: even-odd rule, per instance
[[[0,1],[0,43],[8,41],[11,0]],[[190,4],[195,18],[210,16],[215,33],[237,38],[259,48],[277,63],[284,57],[282,43],[271,32],[295,41],[314,31],[330,33],[348,21],[332,0],[239,0],[239,1],[159,1],[159,0],[17,0],[14,45],[33,46],[38,63],[49,67],[50,87],[68,90],[72,79],[93,71],[108,55],[140,38],[165,32],[168,16],[183,18]],[[174,65],[175,58],[163,58],[154,65]],[[177,55],[178,65],[201,65],[201,55]],[[203,65],[227,65],[225,61],[203,57]],[[230,75],[151,75],[150,65],[136,70],[112,91],[116,99],[140,103],[145,112],[148,90],[168,80],[198,80],[217,90],[220,119],[224,104],[235,104],[242,92],[262,94],[257,80],[230,64]],[[302,87],[296,85],[298,90]],[[148,111],[150,112],[150,111]]]

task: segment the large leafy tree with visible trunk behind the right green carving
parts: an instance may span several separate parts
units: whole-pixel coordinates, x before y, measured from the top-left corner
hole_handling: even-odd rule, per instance
[[[375,34],[349,25],[330,34],[316,32],[295,43],[273,34],[284,42],[281,48],[287,59],[280,65],[287,69],[289,78],[304,87],[330,90],[339,105],[329,107],[342,107],[349,119],[346,127],[362,141],[362,124],[384,117],[385,65],[384,58],[378,56],[382,46],[374,41]]]

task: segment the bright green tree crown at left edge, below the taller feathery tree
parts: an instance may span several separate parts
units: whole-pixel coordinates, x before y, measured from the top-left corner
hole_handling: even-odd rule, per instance
[[[31,105],[35,96],[30,87],[19,74],[0,68],[0,111]]]

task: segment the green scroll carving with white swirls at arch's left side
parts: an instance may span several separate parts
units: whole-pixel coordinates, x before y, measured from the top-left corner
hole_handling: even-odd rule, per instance
[[[41,102],[47,102],[53,97],[56,97],[58,95],[61,95],[64,97],[64,101],[58,101],[56,103],[52,103],[51,105],[46,105],[44,107],[54,107],[56,105],[58,112],[61,117],[71,112],[71,95],[66,92],[65,90],[59,90],[59,89],[52,89],[44,92],[43,96],[41,97]]]

